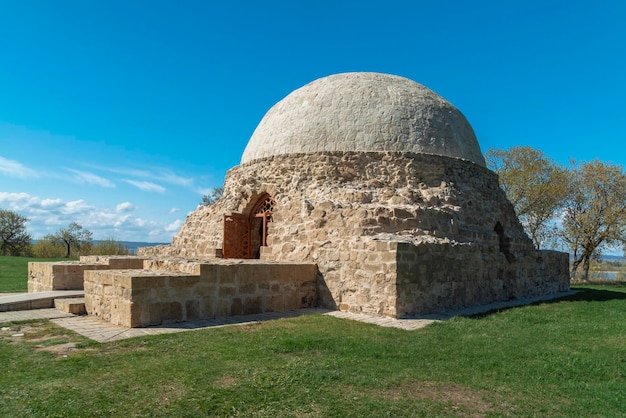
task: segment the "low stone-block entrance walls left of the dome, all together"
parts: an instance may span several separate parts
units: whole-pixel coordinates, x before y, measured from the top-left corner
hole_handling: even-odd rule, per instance
[[[76,294],[84,295],[84,308],[71,301],[59,306],[133,328],[313,308],[317,274],[313,263],[289,261],[89,256],[29,263],[28,290],[37,298],[57,289],[84,289]],[[54,306],[53,299],[29,303]]]

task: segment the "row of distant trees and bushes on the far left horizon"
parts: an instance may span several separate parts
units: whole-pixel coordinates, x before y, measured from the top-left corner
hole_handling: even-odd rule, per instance
[[[128,247],[113,238],[93,242],[92,233],[77,222],[33,243],[28,218],[0,209],[0,255],[38,258],[78,258],[81,255],[128,255]]]

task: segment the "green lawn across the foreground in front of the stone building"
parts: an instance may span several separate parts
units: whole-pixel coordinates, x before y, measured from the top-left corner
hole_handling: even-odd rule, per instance
[[[313,315],[98,344],[5,324],[0,416],[623,417],[626,285],[578,289],[410,332]]]

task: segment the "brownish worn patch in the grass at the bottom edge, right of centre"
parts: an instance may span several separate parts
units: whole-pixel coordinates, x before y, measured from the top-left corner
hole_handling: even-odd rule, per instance
[[[375,389],[371,395],[387,400],[400,401],[418,398],[449,405],[451,413],[464,417],[484,417],[494,412],[493,404],[499,395],[484,390],[437,382],[409,381],[393,388]]]

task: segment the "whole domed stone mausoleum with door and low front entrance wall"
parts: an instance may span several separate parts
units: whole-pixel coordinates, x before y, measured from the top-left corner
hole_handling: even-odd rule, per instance
[[[379,73],[274,105],[170,245],[73,268],[88,313],[127,326],[311,306],[402,318],[569,290],[567,254],[533,246],[463,114]],[[31,291],[62,281],[30,275]]]

